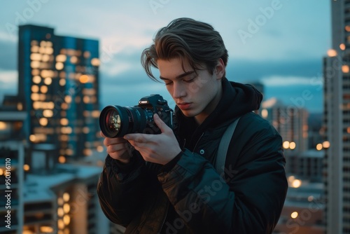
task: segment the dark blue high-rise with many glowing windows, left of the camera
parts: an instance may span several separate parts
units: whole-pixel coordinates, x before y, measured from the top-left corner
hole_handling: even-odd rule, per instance
[[[59,160],[90,156],[99,146],[99,41],[22,25],[18,71],[27,140],[50,144]]]

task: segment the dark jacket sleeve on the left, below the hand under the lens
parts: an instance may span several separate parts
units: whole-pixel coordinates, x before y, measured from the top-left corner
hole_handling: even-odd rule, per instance
[[[141,157],[141,156],[140,156]],[[122,226],[132,221],[134,212],[141,207],[145,189],[144,161],[134,155],[127,165],[106,157],[97,184],[97,194],[102,211],[113,223]]]

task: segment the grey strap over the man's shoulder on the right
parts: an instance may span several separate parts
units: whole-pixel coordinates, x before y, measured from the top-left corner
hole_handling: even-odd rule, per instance
[[[215,169],[218,172],[218,174],[222,174],[223,177],[225,177],[225,161],[226,155],[228,153],[228,146],[230,146],[231,138],[233,132],[235,132],[235,128],[237,126],[239,118],[237,118],[235,121],[230,123],[230,125],[228,125],[228,128],[223,133],[223,137],[221,137],[221,141],[218,146],[218,153],[216,155],[215,160]]]

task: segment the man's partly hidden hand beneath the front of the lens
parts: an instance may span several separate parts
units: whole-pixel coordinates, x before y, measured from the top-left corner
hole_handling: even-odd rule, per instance
[[[111,158],[120,160],[121,163],[129,163],[132,157],[132,146],[123,137],[108,138],[102,132],[99,132],[101,137],[104,137],[104,146]]]

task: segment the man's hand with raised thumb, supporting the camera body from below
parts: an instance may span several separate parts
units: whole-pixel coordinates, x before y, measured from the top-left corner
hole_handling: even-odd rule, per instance
[[[154,115],[154,121],[162,131],[161,134],[132,133],[125,135],[124,138],[141,153],[144,160],[165,165],[181,152],[181,148],[173,130],[158,114]]]

